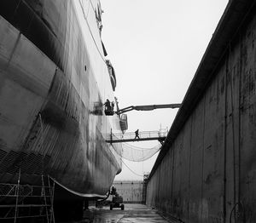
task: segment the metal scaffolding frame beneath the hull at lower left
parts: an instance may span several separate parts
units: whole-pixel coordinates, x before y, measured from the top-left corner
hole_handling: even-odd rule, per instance
[[[44,175],[41,180],[41,186],[21,185],[19,171],[17,184],[0,184],[0,222],[37,219],[37,222],[55,223],[55,182]]]

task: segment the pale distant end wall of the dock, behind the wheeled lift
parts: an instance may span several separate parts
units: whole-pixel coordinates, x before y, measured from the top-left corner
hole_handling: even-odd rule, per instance
[[[143,180],[115,180],[113,186],[124,203],[143,203]]]

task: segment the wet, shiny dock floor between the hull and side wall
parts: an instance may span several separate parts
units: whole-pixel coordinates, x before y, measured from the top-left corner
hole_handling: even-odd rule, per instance
[[[102,209],[90,209],[89,213],[84,213],[84,220],[79,223],[168,223],[153,209],[143,204],[125,203],[125,210],[103,207]],[[87,215],[87,216],[86,216]],[[90,220],[89,220],[90,219]]]

